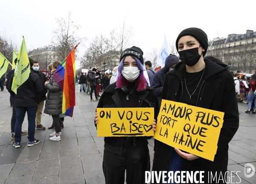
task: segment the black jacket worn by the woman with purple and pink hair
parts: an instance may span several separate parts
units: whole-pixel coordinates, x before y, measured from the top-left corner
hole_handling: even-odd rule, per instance
[[[119,90],[116,89],[116,83],[109,85],[102,93],[97,108],[116,108],[122,107],[122,103],[119,96]],[[147,86],[146,91],[139,95],[137,107],[154,107],[154,119],[157,121],[157,115],[159,113],[159,103],[157,95],[153,89]],[[96,124],[95,124],[96,126]],[[148,145],[147,139],[151,137],[136,137],[134,139],[134,147],[143,147]],[[122,153],[123,137],[105,137],[105,149],[117,154]]]

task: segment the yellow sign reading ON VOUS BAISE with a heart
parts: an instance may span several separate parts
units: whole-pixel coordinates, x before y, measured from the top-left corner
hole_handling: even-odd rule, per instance
[[[99,137],[153,136],[154,108],[97,108]]]

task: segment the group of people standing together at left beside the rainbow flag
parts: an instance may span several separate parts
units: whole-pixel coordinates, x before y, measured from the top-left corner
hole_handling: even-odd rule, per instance
[[[15,64],[17,58],[15,59]],[[52,78],[57,67],[61,64],[54,61],[49,64],[49,75],[40,71],[38,60],[29,58],[30,73],[29,78],[17,88],[17,94],[12,91],[12,82],[15,69],[11,70],[6,80],[6,89],[10,93],[10,106],[12,107],[11,138],[15,148],[20,147],[21,135],[28,134],[28,146],[31,147],[40,141],[35,139],[37,129],[44,130],[41,124],[42,111],[52,116],[52,125],[48,129],[55,128],[55,132],[49,135],[52,141],[61,140],[61,128],[64,127],[64,115],[62,115],[62,95],[63,92],[55,80]],[[44,101],[46,101],[44,103]],[[22,124],[27,113],[28,132],[22,131]],[[60,117],[61,116],[61,117]]]

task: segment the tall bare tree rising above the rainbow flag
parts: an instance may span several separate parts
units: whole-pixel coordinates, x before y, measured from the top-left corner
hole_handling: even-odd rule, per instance
[[[58,60],[63,61],[74,46],[81,41],[86,41],[87,37],[79,37],[77,34],[81,26],[73,22],[71,12],[68,12],[67,17],[56,19],[56,22],[58,28],[53,31],[52,44]]]

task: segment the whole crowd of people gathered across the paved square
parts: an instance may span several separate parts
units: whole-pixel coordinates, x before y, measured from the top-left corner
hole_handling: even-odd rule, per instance
[[[157,116],[162,99],[224,112],[214,161],[154,140],[152,171],[160,173],[203,170],[204,180],[207,183],[209,172],[227,177],[225,173],[228,163],[228,144],[239,127],[237,95],[242,94],[245,100],[248,99],[246,113],[250,113],[253,107],[253,114],[256,114],[253,104],[256,99],[256,74],[249,79],[245,75],[240,77],[239,73],[231,73],[228,66],[217,58],[204,57],[207,48],[208,38],[203,30],[184,29],[176,40],[179,58],[173,54],[169,55],[165,66],[159,71],[155,72],[152,69],[150,61],[144,62],[142,49],[133,46],[121,53],[119,66],[116,66],[110,74],[92,68],[87,73],[76,75],[76,83],[81,84],[81,93],[90,94],[91,102],[99,102],[97,108],[153,107],[154,131],[157,129]],[[63,92],[52,78],[61,63],[58,61],[51,63],[48,66],[51,73],[46,77],[40,72],[38,61],[29,58],[29,62],[31,66],[29,79],[17,89],[17,95],[11,90],[14,70],[9,73],[10,78],[6,82],[13,108],[11,127],[15,148],[20,147],[21,135],[27,133],[28,146],[39,143],[34,135],[35,129],[45,129],[41,124],[44,101],[46,101],[44,113],[52,116],[52,126],[49,129],[55,128],[55,132],[49,135],[50,140],[61,140],[61,128],[64,127],[64,120],[61,119],[64,118],[61,113]],[[145,69],[147,72],[144,72]],[[100,96],[99,92],[102,91]],[[28,132],[21,130],[26,112],[29,121]],[[96,112],[96,127],[97,124]],[[125,171],[127,184],[145,183],[145,171],[150,171],[148,150],[150,138],[151,136],[105,137],[102,168],[106,184],[124,183]],[[177,177],[180,175],[178,174]]]

